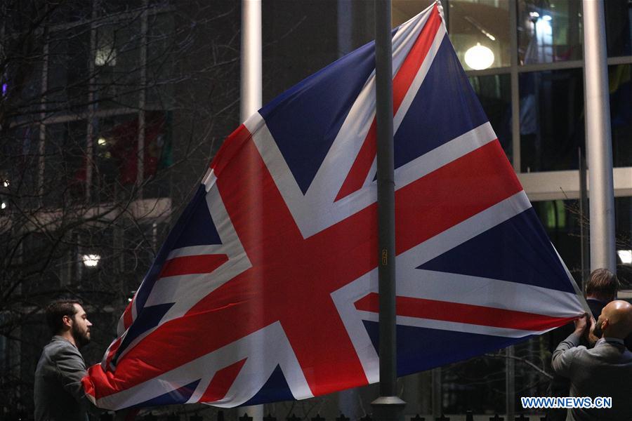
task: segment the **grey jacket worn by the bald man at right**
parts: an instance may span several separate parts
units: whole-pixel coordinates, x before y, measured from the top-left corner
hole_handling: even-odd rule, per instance
[[[600,339],[592,349],[579,341],[574,333],[562,341],[551,366],[570,379],[571,396],[610,396],[612,408],[573,408],[567,420],[632,420],[632,352],[614,339]]]

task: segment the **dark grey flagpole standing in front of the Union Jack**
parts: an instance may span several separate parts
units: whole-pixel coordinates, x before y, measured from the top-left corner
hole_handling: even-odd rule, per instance
[[[406,405],[397,396],[391,31],[390,0],[375,0],[380,396],[371,406],[376,421],[403,421]]]

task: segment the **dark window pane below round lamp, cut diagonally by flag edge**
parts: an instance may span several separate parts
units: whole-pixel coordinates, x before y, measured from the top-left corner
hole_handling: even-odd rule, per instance
[[[478,95],[478,100],[489,118],[489,123],[492,123],[492,128],[507,158],[512,161],[510,76],[508,74],[471,76],[470,84]]]

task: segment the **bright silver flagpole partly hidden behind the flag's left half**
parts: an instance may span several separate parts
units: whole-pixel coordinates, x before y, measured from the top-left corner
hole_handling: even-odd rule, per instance
[[[241,98],[240,119],[261,108],[261,0],[242,0]],[[248,415],[254,421],[263,420],[263,405],[244,406],[237,410],[238,417]]]

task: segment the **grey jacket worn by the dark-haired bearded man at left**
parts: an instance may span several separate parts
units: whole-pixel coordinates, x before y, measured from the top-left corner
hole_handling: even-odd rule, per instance
[[[35,370],[35,421],[86,421],[90,401],[81,377],[86,363],[79,349],[61,336],[44,347]]]

